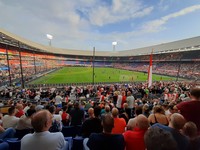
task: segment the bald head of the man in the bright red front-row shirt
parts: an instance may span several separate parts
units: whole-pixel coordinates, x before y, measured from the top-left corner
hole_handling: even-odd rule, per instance
[[[136,119],[136,125],[138,128],[142,130],[147,130],[149,128],[150,124],[146,116],[138,115]]]

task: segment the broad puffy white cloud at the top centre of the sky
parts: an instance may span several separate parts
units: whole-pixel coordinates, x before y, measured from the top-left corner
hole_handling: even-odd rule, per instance
[[[97,4],[88,11],[88,19],[92,25],[104,26],[120,21],[149,15],[153,6],[145,7],[137,0],[113,0],[112,5]]]

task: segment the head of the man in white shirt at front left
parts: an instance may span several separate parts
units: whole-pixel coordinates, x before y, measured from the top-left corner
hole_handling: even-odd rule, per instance
[[[52,124],[51,113],[47,110],[41,110],[35,113],[31,119],[31,124],[35,132],[48,131]]]

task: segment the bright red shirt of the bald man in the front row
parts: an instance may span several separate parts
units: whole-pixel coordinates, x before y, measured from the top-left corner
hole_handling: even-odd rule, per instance
[[[123,133],[126,150],[145,150],[144,134],[146,130],[134,128]]]

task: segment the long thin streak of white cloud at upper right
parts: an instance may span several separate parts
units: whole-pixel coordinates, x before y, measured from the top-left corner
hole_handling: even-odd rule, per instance
[[[186,14],[192,13],[197,10],[200,10],[200,5],[193,5],[193,6],[184,8],[178,12],[166,15],[160,19],[156,19],[156,20],[147,22],[142,26],[142,31],[146,32],[146,33],[147,32],[159,32],[166,28],[163,25],[166,24],[170,19],[184,16]]]

